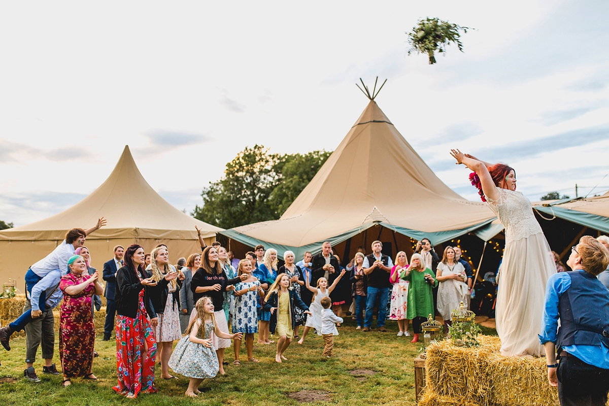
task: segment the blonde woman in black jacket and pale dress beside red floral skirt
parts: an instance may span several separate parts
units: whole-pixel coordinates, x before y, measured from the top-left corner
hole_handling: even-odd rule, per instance
[[[169,357],[174,348],[174,340],[180,340],[180,286],[184,280],[181,270],[174,271],[169,265],[169,253],[165,247],[158,247],[150,253],[150,271],[157,282],[146,290],[152,301],[152,309],[158,317],[155,326],[157,350],[161,361],[161,378],[172,379],[169,375]]]

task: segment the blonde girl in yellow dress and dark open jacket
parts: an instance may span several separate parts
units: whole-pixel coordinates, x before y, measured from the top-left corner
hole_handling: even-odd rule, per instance
[[[294,290],[287,289],[290,285],[290,278],[285,273],[280,273],[275,283],[271,286],[269,294],[266,296],[266,305],[264,306],[271,314],[270,331],[279,335],[277,340],[277,352],[275,354],[275,362],[287,360],[283,356],[287,347],[292,343],[294,337],[295,307],[300,307],[304,313],[311,315],[309,307],[306,306]]]

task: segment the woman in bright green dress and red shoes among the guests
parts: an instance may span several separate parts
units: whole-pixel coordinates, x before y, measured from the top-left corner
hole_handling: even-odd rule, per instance
[[[404,280],[410,282],[406,318],[412,319],[414,337],[411,342],[416,343],[418,335],[421,334],[421,323],[426,321],[430,314],[434,314],[432,289],[438,285],[438,280],[435,279],[435,272],[425,267],[421,254],[412,254],[410,267],[404,273]]]

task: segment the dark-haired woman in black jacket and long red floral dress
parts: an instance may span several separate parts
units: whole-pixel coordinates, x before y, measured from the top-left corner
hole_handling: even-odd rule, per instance
[[[130,245],[125,251],[125,265],[116,271],[116,374],[118,384],[112,389],[130,399],[140,392],[155,393],[154,366],[157,341],[150,324],[157,326],[145,286],[156,285],[144,269],[144,248]],[[149,321],[147,315],[154,316]]]

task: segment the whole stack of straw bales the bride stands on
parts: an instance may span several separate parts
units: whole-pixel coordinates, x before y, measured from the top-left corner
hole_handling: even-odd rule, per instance
[[[443,340],[426,353],[422,406],[556,405],[547,383],[545,358],[502,357],[496,336],[479,336],[481,346],[463,348]]]

